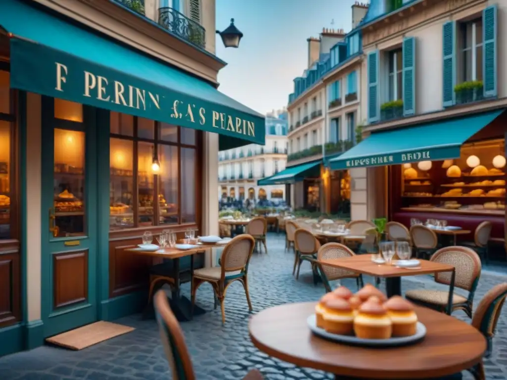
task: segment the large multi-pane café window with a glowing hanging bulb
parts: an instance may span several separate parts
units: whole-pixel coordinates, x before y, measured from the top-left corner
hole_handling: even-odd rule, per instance
[[[111,112],[111,230],[196,223],[198,145],[193,129]]]

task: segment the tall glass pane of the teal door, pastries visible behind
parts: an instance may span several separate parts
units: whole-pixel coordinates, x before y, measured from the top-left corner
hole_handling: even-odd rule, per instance
[[[84,235],[84,132],[55,128],[53,178],[53,236]]]

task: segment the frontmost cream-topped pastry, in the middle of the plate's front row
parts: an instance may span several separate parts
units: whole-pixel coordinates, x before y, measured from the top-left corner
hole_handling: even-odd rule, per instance
[[[354,319],[354,332],[362,339],[390,338],[392,322],[383,305],[375,300],[363,303]]]

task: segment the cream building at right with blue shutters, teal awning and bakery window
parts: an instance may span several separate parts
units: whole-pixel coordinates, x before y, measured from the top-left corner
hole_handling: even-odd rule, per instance
[[[350,171],[352,219],[489,220],[504,237],[506,20],[505,0],[371,2],[364,140],[330,161]]]

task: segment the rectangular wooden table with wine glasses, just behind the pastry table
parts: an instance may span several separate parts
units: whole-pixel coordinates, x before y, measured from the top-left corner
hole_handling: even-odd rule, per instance
[[[392,265],[377,264],[372,261],[372,256],[371,254],[361,254],[351,257],[319,260],[317,262],[322,265],[329,265],[330,267],[348,269],[355,273],[383,277],[385,278],[388,297],[402,295],[402,277],[451,272],[448,311],[452,310],[452,294],[454,292],[454,278],[456,275],[453,265],[419,259],[421,264],[417,268],[398,268],[394,263]]]

